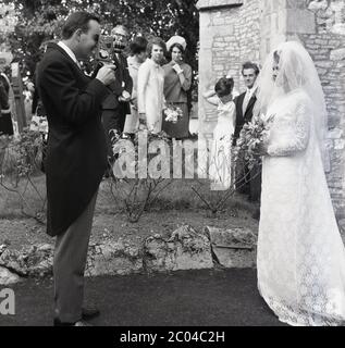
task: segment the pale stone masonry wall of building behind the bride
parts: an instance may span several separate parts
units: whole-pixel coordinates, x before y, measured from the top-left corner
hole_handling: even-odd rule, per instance
[[[211,138],[217,124],[215,108],[201,97],[205,90],[219,77],[231,75],[235,89],[243,91],[242,63],[262,63],[280,42],[299,40],[315,61],[326,99],[328,182],[344,229],[345,0],[199,0],[198,8],[199,137]]]

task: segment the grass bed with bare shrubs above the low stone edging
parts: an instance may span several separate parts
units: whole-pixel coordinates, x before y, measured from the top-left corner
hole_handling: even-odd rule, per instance
[[[24,192],[26,200],[24,212],[30,215],[35,215],[42,208],[45,175],[34,177],[33,183],[36,189],[33,185],[25,188],[25,182],[21,182],[17,188]],[[138,244],[145,237],[155,234],[170,236],[174,229],[184,224],[193,226],[198,232],[202,232],[205,226],[221,228],[247,226],[257,229],[258,222],[251,219],[257,206],[248,202],[245,197],[239,195],[231,197],[223,210],[217,216],[212,216],[193,191],[193,186],[197,187],[199,194],[209,202],[214,202],[220,195],[224,195],[210,191],[207,183],[200,186],[198,181],[176,179],[159,195],[147,211],[144,211],[137,223],[131,223],[123,201],[114,199],[120,192],[114,190],[113,196],[110,190],[110,179],[104,179],[98,195],[91,241],[125,238],[130,243]],[[19,249],[34,244],[53,243],[53,239],[46,235],[45,224],[23,214],[22,207],[23,201],[17,194],[0,187],[0,245],[5,241],[11,248]],[[45,220],[44,214],[42,217]]]

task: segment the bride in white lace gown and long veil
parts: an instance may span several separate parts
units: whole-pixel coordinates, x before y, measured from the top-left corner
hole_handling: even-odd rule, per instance
[[[289,325],[345,323],[345,250],[324,175],[326,111],[313,62],[282,44],[261,73],[258,100],[272,120],[262,161],[258,287]]]

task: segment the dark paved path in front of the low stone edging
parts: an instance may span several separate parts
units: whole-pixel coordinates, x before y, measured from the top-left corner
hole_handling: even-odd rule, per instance
[[[51,325],[51,279],[26,279],[13,289],[16,315],[0,315],[0,326]],[[95,325],[283,325],[257,290],[256,270],[93,277],[86,281],[86,298],[101,310]]]

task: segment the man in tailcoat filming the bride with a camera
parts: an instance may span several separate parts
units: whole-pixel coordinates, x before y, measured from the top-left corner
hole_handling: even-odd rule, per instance
[[[38,66],[37,87],[49,124],[47,233],[57,236],[54,325],[85,326],[97,310],[83,309],[84,270],[96,197],[107,165],[101,102],[115,66],[103,66],[95,79],[82,72],[100,36],[99,20],[75,12],[66,20],[62,41],[49,44]]]

